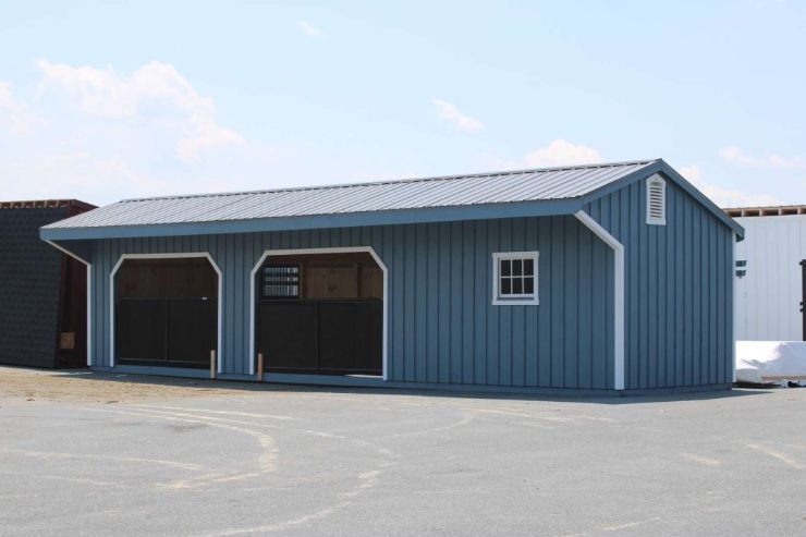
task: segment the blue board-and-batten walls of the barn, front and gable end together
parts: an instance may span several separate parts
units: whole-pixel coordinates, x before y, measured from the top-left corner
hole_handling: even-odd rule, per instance
[[[732,232],[667,182],[667,225],[645,181],[585,206],[624,244],[627,389],[726,385]],[[122,254],[209,252],[223,272],[223,373],[249,371],[249,273],[266,249],[371,246],[389,269],[389,380],[612,389],[612,252],[576,218],[528,217],[88,243],[93,363],[110,356],[109,274]],[[494,252],[539,251],[539,305],[491,304]]]

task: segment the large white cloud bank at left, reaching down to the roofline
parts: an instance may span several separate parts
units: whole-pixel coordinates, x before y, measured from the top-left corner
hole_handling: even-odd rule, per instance
[[[293,149],[249,143],[220,126],[212,99],[171,65],[151,62],[126,75],[38,65],[35,95],[14,95],[0,83],[0,199],[100,205],[292,185],[304,173]]]

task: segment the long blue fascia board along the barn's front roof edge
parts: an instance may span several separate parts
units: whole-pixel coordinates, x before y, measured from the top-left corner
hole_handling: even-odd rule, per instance
[[[210,222],[178,222],[86,228],[45,227],[39,230],[39,236],[46,241],[75,241],[137,236],[215,235],[224,233],[254,233],[262,231],[483,220],[491,218],[561,216],[573,215],[582,207],[582,198],[565,198],[461,207],[428,207],[422,209],[314,215],[305,217],[218,220]]]

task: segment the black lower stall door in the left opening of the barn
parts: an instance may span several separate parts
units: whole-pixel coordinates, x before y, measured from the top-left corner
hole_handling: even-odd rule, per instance
[[[218,344],[217,302],[209,298],[120,298],[115,313],[117,362],[209,367],[210,351]]]

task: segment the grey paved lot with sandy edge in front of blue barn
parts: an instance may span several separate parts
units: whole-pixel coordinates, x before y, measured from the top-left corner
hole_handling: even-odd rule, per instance
[[[0,367],[0,535],[806,535],[804,418]]]

